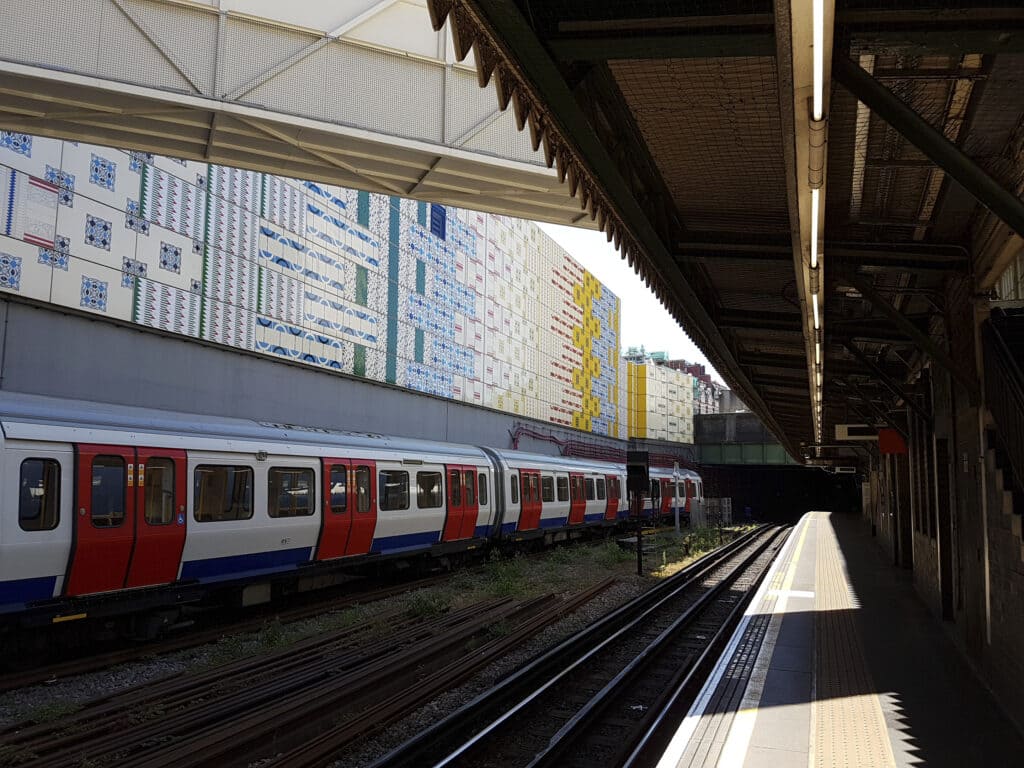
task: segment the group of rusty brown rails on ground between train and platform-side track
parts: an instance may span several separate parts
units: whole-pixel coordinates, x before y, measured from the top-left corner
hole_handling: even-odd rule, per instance
[[[322,765],[611,583],[568,600],[492,600],[431,621],[382,614],[372,625],[98,699],[58,722],[7,728],[0,759],[47,768],[229,768],[297,749],[285,764]]]

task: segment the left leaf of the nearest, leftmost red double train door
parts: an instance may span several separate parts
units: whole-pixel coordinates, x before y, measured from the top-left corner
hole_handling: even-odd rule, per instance
[[[78,445],[75,538],[66,595],[123,589],[135,541],[135,450]]]

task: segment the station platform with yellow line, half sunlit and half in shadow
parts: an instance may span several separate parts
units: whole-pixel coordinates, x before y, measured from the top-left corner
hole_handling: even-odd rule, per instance
[[[1024,739],[862,520],[806,514],[658,768],[1004,766]]]

